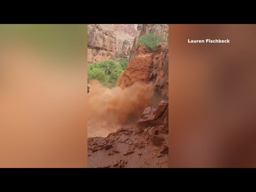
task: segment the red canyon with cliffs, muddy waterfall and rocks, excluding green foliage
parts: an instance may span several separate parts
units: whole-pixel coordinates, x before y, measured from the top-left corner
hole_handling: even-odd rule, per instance
[[[154,50],[138,39],[158,35]],[[168,24],[90,24],[88,63],[128,58],[114,88],[90,82],[88,167],[168,167]]]

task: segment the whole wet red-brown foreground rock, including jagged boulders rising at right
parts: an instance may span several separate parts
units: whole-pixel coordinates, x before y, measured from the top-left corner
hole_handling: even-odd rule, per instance
[[[144,110],[138,124],[88,138],[89,168],[167,168],[168,102]]]

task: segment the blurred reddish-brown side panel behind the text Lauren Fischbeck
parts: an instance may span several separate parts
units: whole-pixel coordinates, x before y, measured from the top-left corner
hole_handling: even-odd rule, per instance
[[[256,167],[255,32],[256,25],[170,25],[170,167]]]

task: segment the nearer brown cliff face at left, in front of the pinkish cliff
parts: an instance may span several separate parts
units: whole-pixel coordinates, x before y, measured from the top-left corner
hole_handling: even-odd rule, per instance
[[[104,59],[114,59],[116,36],[111,30],[98,24],[88,25],[88,63]]]

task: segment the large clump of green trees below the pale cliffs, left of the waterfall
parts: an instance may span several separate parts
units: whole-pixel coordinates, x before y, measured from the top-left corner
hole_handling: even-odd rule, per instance
[[[112,88],[115,86],[119,76],[123,72],[120,63],[112,59],[102,60],[94,64],[88,64],[88,80],[96,79],[104,86]]]

